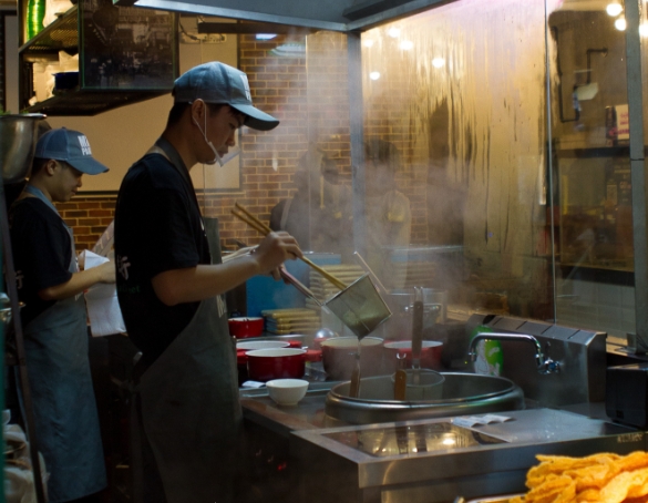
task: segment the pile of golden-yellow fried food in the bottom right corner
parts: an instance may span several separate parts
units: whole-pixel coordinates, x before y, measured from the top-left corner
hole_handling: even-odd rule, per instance
[[[648,452],[537,455],[524,496],[510,503],[648,503]]]

